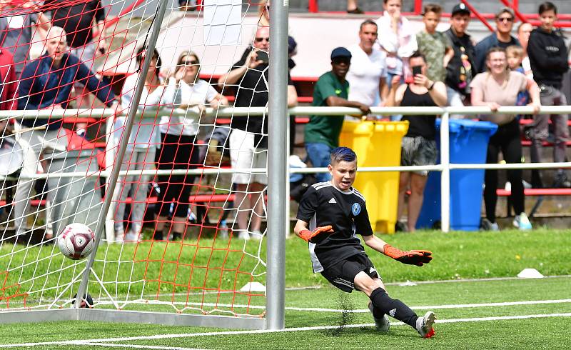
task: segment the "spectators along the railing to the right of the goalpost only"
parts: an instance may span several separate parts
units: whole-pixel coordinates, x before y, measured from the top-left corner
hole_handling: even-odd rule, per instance
[[[360,25],[359,42],[331,53],[331,71],[320,76],[313,93],[313,106],[353,106],[368,114],[370,106],[533,106],[533,121],[526,135],[532,142],[531,161],[541,162],[541,148],[549,136],[552,121],[555,161],[566,160],[569,138],[567,114],[538,114],[540,107],[567,105],[562,93],[563,74],[569,69],[568,51],[561,31],[555,28],[557,7],[549,1],[539,6],[540,26],[522,23],[513,33],[515,14],[502,7],[495,14],[495,31],[475,43],[468,34],[471,11],[463,3],[450,13],[450,29],[437,31],[443,11],[426,4],[425,27],[418,33],[400,14],[401,0],[383,0],[383,16]],[[453,115],[452,118],[474,116]],[[375,119],[375,116],[369,116]],[[401,165],[433,165],[438,156],[435,144],[435,116],[391,116],[409,122],[403,137]],[[522,161],[520,116],[492,114],[480,119],[492,121],[499,129],[487,149],[487,163],[495,164],[501,151],[507,163]],[[305,149],[313,166],[328,164],[331,149],[338,146],[343,126],[341,116],[311,116],[305,126]],[[542,171],[532,171],[535,188],[546,185]],[[408,222],[398,221],[395,230],[414,231],[423,204],[428,171],[400,173],[398,217],[408,201]],[[329,174],[318,174],[328,181]],[[510,201],[516,211],[513,224],[531,229],[525,214],[522,171],[507,171],[511,184]],[[485,171],[485,229],[499,229],[495,221],[497,171]],[[549,185],[547,185],[549,186]],[[563,169],[552,187],[570,187]]]

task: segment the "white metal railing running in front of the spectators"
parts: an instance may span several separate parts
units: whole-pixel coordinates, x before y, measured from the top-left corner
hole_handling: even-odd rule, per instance
[[[267,114],[266,107],[220,107],[218,109],[208,108],[205,114],[208,116],[228,117],[233,116],[260,116]],[[450,170],[453,169],[561,169],[571,168],[571,162],[560,163],[528,163],[528,164],[450,164],[450,151],[449,151],[449,128],[448,120],[451,114],[459,114],[464,116],[477,116],[492,114],[492,111],[487,107],[371,107],[371,114],[373,115],[437,115],[441,116],[442,121],[440,124],[440,164],[433,166],[370,166],[360,167],[358,171],[440,171],[441,176],[441,222],[442,230],[448,232],[450,230]],[[155,117],[156,111],[146,111],[142,116]],[[167,116],[195,116],[198,114],[190,110],[163,109],[159,111]],[[504,106],[500,107],[495,114],[532,114],[533,109],[530,106]],[[571,114],[571,106],[542,106],[540,113],[542,114]],[[319,116],[341,116],[341,115],[361,115],[359,109],[348,107],[294,107],[289,109],[290,115],[319,115]],[[92,118],[107,119],[107,136],[112,131],[112,118],[113,110],[111,109],[67,109],[67,110],[41,110],[41,111],[0,111],[0,119],[15,118],[15,119],[36,119],[36,118],[54,118],[54,117],[73,117],[73,116],[90,116]],[[108,140],[107,145],[112,145],[112,141]],[[113,152],[111,147],[108,146],[106,158],[112,156]],[[106,164],[111,164],[113,158],[108,159]],[[290,169],[290,173],[319,173],[327,171],[326,168],[304,168],[304,169]],[[251,172],[251,173],[264,173],[266,169],[181,169],[181,170],[138,170],[138,171],[121,171],[121,176],[131,174],[233,174],[235,172]],[[67,177],[78,176],[84,174],[86,176],[109,176],[109,170],[98,171],[96,174],[90,173],[69,173],[69,174],[38,174],[35,178],[46,178],[49,176]]]

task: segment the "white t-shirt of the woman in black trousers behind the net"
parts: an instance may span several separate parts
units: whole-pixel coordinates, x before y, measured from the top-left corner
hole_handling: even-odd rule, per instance
[[[216,89],[204,80],[198,80],[195,84],[186,84],[184,81],[181,81],[179,86],[181,104],[206,105],[218,94]],[[193,110],[193,108],[189,109],[189,111],[191,110]],[[194,108],[194,110],[197,111],[196,108]],[[161,116],[161,133],[193,136],[198,133],[199,123],[200,120],[198,120],[198,117],[191,114],[186,116]]]

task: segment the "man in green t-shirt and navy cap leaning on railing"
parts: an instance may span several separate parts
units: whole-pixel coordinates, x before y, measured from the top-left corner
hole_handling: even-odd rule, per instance
[[[319,77],[313,88],[312,106],[354,107],[369,114],[369,106],[348,101],[349,82],[345,76],[351,64],[351,53],[344,47],[331,51],[331,70]],[[327,167],[331,150],[339,146],[339,134],[344,116],[310,116],[305,126],[305,150],[314,167]],[[329,181],[328,173],[315,176],[320,182]]]

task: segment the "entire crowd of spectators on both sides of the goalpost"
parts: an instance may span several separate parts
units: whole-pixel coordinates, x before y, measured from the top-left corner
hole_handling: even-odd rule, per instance
[[[62,0],[63,1],[63,0]],[[69,109],[93,106],[95,96],[109,108],[126,112],[135,108],[141,118],[133,126],[123,170],[191,169],[202,164],[195,147],[201,135],[201,119],[205,107],[228,104],[228,99],[207,81],[199,78],[201,62],[192,51],[178,56],[176,66],[165,76],[158,51],[148,52],[141,46],[133,53],[138,71],[143,60],[151,55],[146,71],[142,103],[133,106],[138,76],[126,78],[121,94],[113,94],[111,84],[99,79],[91,69],[94,59],[106,53],[108,43],[103,35],[105,14],[99,0],[81,4],[60,4],[46,0],[44,5],[25,2],[17,9],[1,5],[0,17],[0,76],[2,79],[0,108],[41,110]],[[188,1],[186,1],[188,3]],[[268,104],[269,2],[260,12],[260,26],[252,45],[243,52],[218,84],[235,86],[234,106],[266,106]],[[401,14],[402,0],[383,0],[383,16],[360,24],[358,43],[333,49],[331,70],[321,75],[314,86],[313,106],[354,107],[369,119],[371,106],[487,106],[497,111],[500,106],[533,106],[535,115],[526,133],[532,141],[531,160],[540,162],[543,141],[549,136],[551,120],[555,135],[554,160],[565,161],[565,142],[569,138],[567,115],[538,114],[540,106],[566,105],[562,93],[562,77],[568,69],[568,51],[561,32],[555,28],[557,8],[550,2],[539,6],[540,26],[522,23],[513,31],[515,14],[502,8],[495,14],[495,31],[475,43],[468,34],[470,9],[455,5],[451,11],[450,29],[437,30],[443,9],[436,4],[425,5],[424,29],[415,33]],[[26,9],[26,14],[16,10]],[[348,12],[359,13],[357,1],[348,1]],[[34,33],[45,40],[45,52],[30,59],[29,51]],[[295,66],[295,40],[290,38],[289,68]],[[297,104],[297,93],[288,74],[288,107]],[[170,107],[193,111],[193,116],[161,116],[156,127],[158,109]],[[124,114],[123,114],[124,115]],[[269,116],[271,118],[271,116]],[[453,116],[463,118],[463,116]],[[522,161],[520,116],[492,114],[482,120],[499,126],[487,149],[487,162],[497,163],[501,151],[507,163]],[[432,165],[438,157],[435,116],[391,116],[393,120],[409,122],[402,141],[401,165]],[[343,116],[310,116],[305,126],[305,151],[315,167],[326,167],[330,152],[339,146]],[[24,149],[22,177],[14,198],[16,235],[26,232],[26,211],[33,180],[41,154],[46,150],[65,151],[61,118],[17,119],[13,121],[16,139]],[[117,114],[113,123],[113,138],[118,143],[125,128],[125,118]],[[211,124],[210,124],[211,125]],[[6,123],[2,127],[7,128]],[[85,124],[76,124],[77,134],[85,135]],[[236,169],[265,168],[267,164],[268,116],[233,116],[231,132],[227,135],[231,166]],[[6,131],[7,132],[7,131]],[[213,130],[208,130],[213,135]],[[532,172],[532,186],[544,187],[542,171]],[[397,229],[414,231],[428,171],[400,174],[398,215],[408,211],[408,222],[400,221]],[[512,205],[516,210],[514,225],[530,229],[524,211],[522,171],[507,171],[512,184]],[[330,175],[320,173],[317,181],[328,181]],[[116,240],[141,239],[143,216],[146,211],[147,175],[123,176],[118,181],[113,198]],[[190,175],[158,176],[158,200],[155,205],[154,239],[180,239],[188,220],[188,197],[194,177]],[[240,239],[261,239],[261,219],[265,206],[266,174],[236,172],[233,174],[236,222],[233,231]],[[487,228],[498,229],[495,221],[497,171],[485,174],[485,208]],[[570,186],[563,169],[557,171],[554,187]],[[405,196],[410,191],[408,203]],[[51,192],[48,191],[48,194]],[[125,225],[125,202],[132,199],[128,226]],[[49,198],[48,202],[54,199]],[[47,211],[49,212],[49,211]],[[170,218],[170,219],[169,219]],[[167,230],[167,226],[170,227]],[[46,229],[44,239],[54,233]]]

